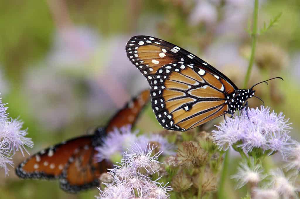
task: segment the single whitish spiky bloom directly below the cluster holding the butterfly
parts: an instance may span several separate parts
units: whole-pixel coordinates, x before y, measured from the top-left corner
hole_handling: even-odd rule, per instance
[[[232,175],[231,178],[238,182],[236,188],[241,188],[247,183],[250,183],[251,186],[255,186],[266,177],[266,175],[262,174],[263,171],[261,165],[254,165],[254,159],[250,158],[250,165],[248,165],[247,162],[241,162],[238,167],[238,172]]]

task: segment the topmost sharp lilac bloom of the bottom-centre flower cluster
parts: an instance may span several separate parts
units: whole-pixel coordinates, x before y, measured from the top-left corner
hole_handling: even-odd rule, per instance
[[[158,156],[161,152],[152,155],[153,150],[156,146],[140,147],[137,143],[128,152],[125,152],[124,156],[128,158],[129,167],[133,168],[135,171],[140,171],[142,168],[146,170],[147,173],[156,173],[158,171],[157,164]]]

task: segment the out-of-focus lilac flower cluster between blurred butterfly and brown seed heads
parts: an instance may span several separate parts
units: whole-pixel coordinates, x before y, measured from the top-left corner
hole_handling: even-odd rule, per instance
[[[104,159],[113,162],[120,161],[122,153],[130,146],[133,146],[133,149],[136,149],[137,146],[144,149],[148,146],[148,143],[154,144],[154,146],[156,146],[164,155],[175,154],[175,145],[168,143],[168,140],[160,134],[137,136],[137,133],[137,131],[131,132],[130,125],[123,126],[120,129],[115,128],[113,132],[109,132],[107,137],[103,139],[103,144],[96,147],[96,150],[98,151],[98,154],[96,155],[97,160],[99,162]]]

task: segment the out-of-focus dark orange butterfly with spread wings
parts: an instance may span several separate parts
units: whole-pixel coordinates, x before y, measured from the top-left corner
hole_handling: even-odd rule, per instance
[[[113,165],[107,160],[97,162],[95,147],[101,146],[103,138],[114,128],[134,125],[149,98],[149,89],[144,90],[119,110],[106,127],[97,128],[94,134],[64,141],[32,155],[16,167],[17,176],[59,179],[60,187],[71,193],[99,186],[99,176]]]

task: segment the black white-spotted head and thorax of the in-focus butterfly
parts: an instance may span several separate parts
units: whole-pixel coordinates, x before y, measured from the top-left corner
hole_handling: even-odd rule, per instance
[[[238,89],[235,92],[227,94],[225,101],[228,104],[228,113],[233,114],[235,110],[241,110],[244,107],[244,104],[247,102],[249,98],[254,95],[252,89]]]

